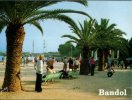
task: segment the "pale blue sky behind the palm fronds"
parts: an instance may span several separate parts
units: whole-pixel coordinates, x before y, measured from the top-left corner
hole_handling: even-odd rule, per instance
[[[74,9],[79,11],[87,12],[92,18],[97,19],[100,22],[101,18],[110,19],[110,23],[115,23],[116,28],[121,29],[126,33],[124,36],[126,39],[132,37],[132,1],[88,1],[88,7],[84,7],[78,3],[62,2],[56,5],[47,7],[45,9]],[[88,19],[86,16],[79,14],[67,14],[76,23]],[[34,52],[57,52],[60,44],[64,44],[68,41],[68,38],[61,38],[64,34],[72,34],[69,29],[69,25],[57,21],[57,20],[46,20],[40,22],[44,30],[43,36],[41,32],[32,25],[25,25],[25,40],[23,44],[24,52],[33,52],[33,41],[34,41]],[[6,51],[6,37],[5,30],[0,34],[0,51]],[[44,47],[44,48],[43,48]]]

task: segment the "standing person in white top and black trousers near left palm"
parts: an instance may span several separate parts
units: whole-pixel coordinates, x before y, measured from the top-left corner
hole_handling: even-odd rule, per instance
[[[35,64],[36,69],[36,83],[35,91],[42,92],[41,83],[42,83],[42,74],[43,74],[43,58],[39,56],[37,63]]]

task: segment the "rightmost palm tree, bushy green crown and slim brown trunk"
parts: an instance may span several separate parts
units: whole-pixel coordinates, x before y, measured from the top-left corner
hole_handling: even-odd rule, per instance
[[[104,70],[108,51],[110,49],[118,50],[124,44],[122,35],[125,33],[119,29],[115,29],[115,26],[115,24],[109,24],[108,19],[101,19],[100,24],[96,22],[95,47],[98,48],[99,52],[99,71]]]

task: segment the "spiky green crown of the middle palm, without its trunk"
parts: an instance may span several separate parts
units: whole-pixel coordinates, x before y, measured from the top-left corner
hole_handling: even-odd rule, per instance
[[[79,23],[80,26],[77,26],[77,24],[70,26],[70,29],[72,30],[72,33],[75,35],[63,35],[62,37],[68,37],[70,38],[69,42],[74,42],[80,47],[91,47],[94,42],[94,23],[95,20],[85,20],[84,24],[82,25]]]

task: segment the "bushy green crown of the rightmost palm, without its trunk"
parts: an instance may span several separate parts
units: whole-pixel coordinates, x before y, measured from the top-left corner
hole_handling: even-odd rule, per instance
[[[101,19],[100,24],[96,22],[95,28],[95,47],[111,50],[120,50],[121,52],[127,51],[127,42],[123,38],[125,35],[120,29],[115,28],[116,24],[109,24],[108,19]]]

